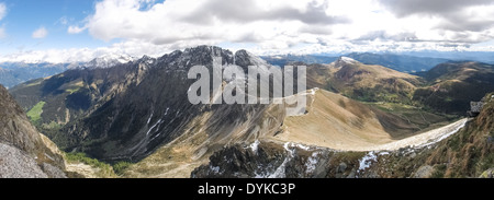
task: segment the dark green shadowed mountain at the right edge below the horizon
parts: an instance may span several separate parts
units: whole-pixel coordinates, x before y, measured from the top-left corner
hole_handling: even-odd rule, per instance
[[[444,113],[463,115],[470,102],[494,92],[494,66],[459,61],[438,64],[422,73],[428,86],[418,89],[413,99]]]

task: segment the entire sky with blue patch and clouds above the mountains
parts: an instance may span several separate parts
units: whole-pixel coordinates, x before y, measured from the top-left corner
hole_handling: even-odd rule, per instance
[[[494,51],[494,1],[0,0],[0,62],[199,45],[257,55]]]

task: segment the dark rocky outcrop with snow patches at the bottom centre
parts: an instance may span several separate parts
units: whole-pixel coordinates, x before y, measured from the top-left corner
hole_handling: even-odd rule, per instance
[[[329,149],[265,142],[236,144],[216,152],[192,178],[326,178],[356,176],[357,162],[334,158]],[[333,162],[332,162],[333,161]],[[345,167],[341,167],[341,163]]]

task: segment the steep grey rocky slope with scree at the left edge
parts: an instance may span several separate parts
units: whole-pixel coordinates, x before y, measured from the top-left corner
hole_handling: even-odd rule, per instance
[[[0,107],[0,177],[65,177],[63,156],[45,145],[1,85]]]

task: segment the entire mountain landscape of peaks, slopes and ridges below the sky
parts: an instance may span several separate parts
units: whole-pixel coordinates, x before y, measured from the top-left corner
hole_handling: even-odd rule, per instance
[[[245,71],[273,63],[213,46],[100,59],[10,89],[19,106],[2,101],[63,151],[122,177],[473,177],[494,166],[483,125],[492,125],[493,66],[445,60],[409,74],[349,57],[283,61],[307,67],[307,90],[285,97],[308,99],[293,116],[287,104],[190,104],[188,71],[212,70],[213,57]],[[481,98],[479,117],[463,118]]]

